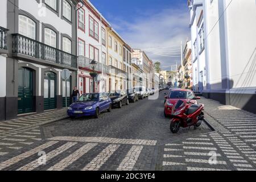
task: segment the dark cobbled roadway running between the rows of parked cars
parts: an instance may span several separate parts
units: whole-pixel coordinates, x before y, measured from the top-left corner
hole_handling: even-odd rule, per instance
[[[181,129],[172,134],[170,119],[165,118],[164,92],[156,100],[139,100],[111,113],[101,113],[100,118],[67,118],[42,126],[45,138],[52,137],[109,137],[121,139],[157,140],[157,144],[174,142],[183,138],[207,133],[209,128],[203,124],[199,129]]]

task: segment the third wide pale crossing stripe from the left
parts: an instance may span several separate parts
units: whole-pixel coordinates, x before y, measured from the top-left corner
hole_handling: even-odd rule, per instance
[[[81,156],[85,155],[93,147],[97,146],[97,143],[88,143],[79,148],[77,151],[73,152],[67,158],[61,160],[59,163],[47,169],[47,171],[62,171],[64,168],[68,167],[70,164],[75,162]]]

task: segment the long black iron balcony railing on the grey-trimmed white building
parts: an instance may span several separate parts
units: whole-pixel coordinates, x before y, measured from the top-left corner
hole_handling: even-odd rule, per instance
[[[13,53],[47,60],[68,67],[77,68],[77,57],[71,53],[40,43],[20,34],[13,34]]]

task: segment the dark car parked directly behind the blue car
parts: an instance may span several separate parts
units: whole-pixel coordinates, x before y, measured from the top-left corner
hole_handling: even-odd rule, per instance
[[[112,106],[122,108],[123,104],[129,105],[128,95],[124,91],[109,93],[109,98],[112,100]]]

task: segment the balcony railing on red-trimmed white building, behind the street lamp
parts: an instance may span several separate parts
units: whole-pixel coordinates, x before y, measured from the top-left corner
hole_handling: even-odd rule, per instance
[[[89,59],[88,57],[85,57],[85,56],[79,56],[79,67],[92,69],[90,67],[90,62],[92,62],[92,59]],[[102,72],[102,64],[98,63],[94,70],[97,72]],[[105,64],[103,64],[103,73],[107,73],[107,74],[110,73],[109,67]]]

